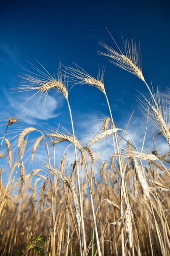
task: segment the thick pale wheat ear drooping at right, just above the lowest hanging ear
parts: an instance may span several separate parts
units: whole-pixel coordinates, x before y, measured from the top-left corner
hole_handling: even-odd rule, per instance
[[[131,162],[132,162],[132,167],[135,171],[136,179],[139,181],[139,184],[141,185],[143,198],[145,201],[150,201],[149,187],[144,178],[142,169],[139,166],[139,163],[137,162],[135,157],[131,157]]]

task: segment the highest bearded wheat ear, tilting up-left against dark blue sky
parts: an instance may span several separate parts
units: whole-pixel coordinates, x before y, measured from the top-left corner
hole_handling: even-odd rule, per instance
[[[144,81],[144,76],[142,74],[141,68],[140,49],[139,47],[136,47],[136,42],[133,42],[133,39],[131,40],[130,43],[128,39],[123,41],[124,47],[122,47],[122,51],[116,44],[116,46],[119,49],[119,52],[114,50],[112,47],[107,46],[103,42],[99,44],[106,49],[106,52],[99,52],[99,54],[113,59],[113,61],[109,61],[115,64],[116,66],[121,67],[124,70],[127,70],[128,72],[132,73],[133,75],[137,76],[139,79]]]

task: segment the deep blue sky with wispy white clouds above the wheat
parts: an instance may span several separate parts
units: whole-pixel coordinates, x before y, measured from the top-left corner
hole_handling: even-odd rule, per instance
[[[109,63],[99,41],[116,49],[124,38],[136,37],[142,50],[142,71],[148,84],[157,84],[162,92],[169,87],[170,73],[170,18],[166,1],[8,1],[0,10],[0,107],[2,114],[16,116],[26,112],[23,125],[61,122],[71,131],[65,99],[51,90],[45,109],[43,100],[36,106],[36,97],[16,109],[28,99],[28,93],[9,93],[6,90],[18,84],[16,73],[23,68],[30,70],[30,61],[36,59],[48,70],[56,72],[59,58],[64,65],[76,63],[91,76],[98,74],[98,65],[106,66],[105,90],[111,104],[117,127],[125,128],[133,112],[129,131],[137,143],[142,143],[145,118],[137,108],[136,96],[149,95],[146,86],[135,76]],[[96,88],[74,86],[69,91],[76,134],[79,138],[94,125],[96,120],[109,115],[105,96]],[[19,123],[18,123],[19,124]],[[21,125],[21,124],[20,124]],[[0,127],[3,134],[4,127]],[[151,138],[151,131],[148,132]],[[139,139],[140,138],[140,139]]]

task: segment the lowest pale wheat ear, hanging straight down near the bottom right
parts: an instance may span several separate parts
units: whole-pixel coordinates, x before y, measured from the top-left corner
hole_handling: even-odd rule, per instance
[[[125,221],[125,233],[128,237],[129,247],[132,248],[132,223],[131,223],[131,217],[130,217],[129,204],[127,204],[125,209],[124,221]]]

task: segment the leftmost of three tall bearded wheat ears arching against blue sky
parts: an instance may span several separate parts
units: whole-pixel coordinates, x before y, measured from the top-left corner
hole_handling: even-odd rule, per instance
[[[45,96],[45,99],[46,99],[46,96],[49,90],[53,88],[58,90],[60,93],[62,93],[65,99],[68,99],[68,91],[62,82],[60,65],[59,65],[59,71],[58,71],[58,79],[56,79],[55,75],[51,76],[50,73],[48,73],[48,71],[41,64],[40,64],[40,68],[31,64],[31,68],[33,69],[32,71],[26,70],[28,73],[22,74],[19,76],[21,79],[23,79],[21,81],[23,84],[21,84],[17,88],[13,88],[12,90],[18,90],[18,92],[21,92],[23,90],[25,91],[36,90],[37,92],[34,93],[34,95],[36,95],[37,93],[40,93],[40,97],[38,100],[39,102],[43,96]],[[29,99],[31,99],[33,96],[31,96]]]

